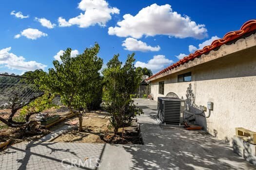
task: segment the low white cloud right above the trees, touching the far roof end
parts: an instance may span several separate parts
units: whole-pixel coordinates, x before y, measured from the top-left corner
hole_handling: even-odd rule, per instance
[[[173,63],[173,60],[169,60],[168,58],[165,58],[165,55],[155,55],[153,59],[150,59],[148,63],[143,63],[140,61],[137,61],[135,63],[135,67],[141,67],[141,68],[149,68],[154,73],[157,71],[165,68],[166,66],[169,66]]]

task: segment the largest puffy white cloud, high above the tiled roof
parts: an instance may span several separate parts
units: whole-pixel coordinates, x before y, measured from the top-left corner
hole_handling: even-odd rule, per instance
[[[152,4],[142,8],[136,16],[125,14],[123,20],[119,21],[117,25],[116,27],[109,27],[108,34],[134,38],[159,34],[197,39],[207,36],[205,25],[197,24],[188,16],[181,16],[173,11],[169,4]]]

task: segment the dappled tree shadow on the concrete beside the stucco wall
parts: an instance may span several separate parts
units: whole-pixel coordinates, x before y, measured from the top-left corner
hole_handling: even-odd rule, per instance
[[[132,155],[133,170],[255,169],[229,146],[207,133],[160,129],[158,125],[150,127],[150,134],[143,134],[145,140],[150,137],[150,143],[123,146]]]

